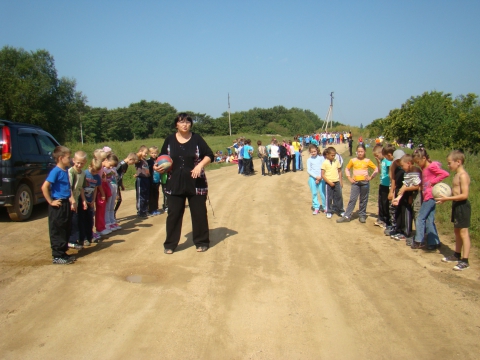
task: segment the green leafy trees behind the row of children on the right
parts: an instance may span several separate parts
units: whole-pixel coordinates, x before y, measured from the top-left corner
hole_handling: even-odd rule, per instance
[[[384,135],[389,140],[424,144],[430,149],[480,151],[480,104],[469,93],[455,99],[449,93],[425,92],[412,96],[399,109],[365,127],[370,137]]]

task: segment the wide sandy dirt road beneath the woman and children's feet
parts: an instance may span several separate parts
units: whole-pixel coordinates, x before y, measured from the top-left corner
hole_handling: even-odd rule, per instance
[[[45,206],[1,212],[0,358],[478,359],[478,262],[455,273],[372,216],[312,216],[307,177],[208,172],[206,253],[187,210],[164,255],[165,215],[137,219],[131,191],[123,229],[68,266],[51,265]]]

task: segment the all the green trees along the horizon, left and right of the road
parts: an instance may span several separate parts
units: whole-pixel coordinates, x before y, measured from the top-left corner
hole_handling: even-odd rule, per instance
[[[194,131],[202,135],[307,134],[323,121],[310,110],[283,106],[224,112],[213,118],[189,112]],[[0,118],[37,124],[60,142],[129,141],[164,138],[174,130],[178,113],[172,105],[142,100],[128,107],[90,107],[87,97],[76,90],[74,79],[58,77],[55,61],[46,50],[25,51],[10,46],[0,50]],[[231,125],[230,125],[231,124]],[[339,127],[340,123],[333,124]],[[384,135],[406,143],[412,139],[428,148],[460,148],[480,151],[480,106],[476,94],[461,95],[433,91],[412,96],[399,109],[365,127],[369,136]]]

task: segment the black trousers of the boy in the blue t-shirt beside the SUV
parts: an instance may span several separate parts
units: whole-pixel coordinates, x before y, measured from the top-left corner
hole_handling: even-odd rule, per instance
[[[68,238],[71,228],[71,210],[68,199],[63,199],[59,207],[48,206],[48,230],[50,246],[54,258],[63,258],[67,255]]]

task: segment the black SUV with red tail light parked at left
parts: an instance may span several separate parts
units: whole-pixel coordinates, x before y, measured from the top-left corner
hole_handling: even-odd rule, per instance
[[[26,220],[33,205],[44,202],[42,185],[55,167],[59,143],[40,126],[0,120],[0,206],[13,221]]]

